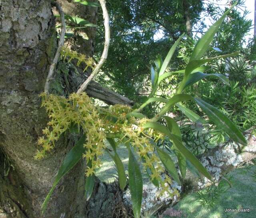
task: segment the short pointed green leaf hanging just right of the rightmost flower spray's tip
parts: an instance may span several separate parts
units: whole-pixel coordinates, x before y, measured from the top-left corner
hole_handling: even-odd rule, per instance
[[[163,150],[156,148],[157,153],[160,157],[160,160],[162,161],[162,163],[164,164],[164,167],[166,168],[166,170],[171,174],[172,178],[178,183],[180,184],[180,178],[179,175],[177,173],[175,164],[172,161],[172,158],[170,157],[170,155],[168,155],[166,152],[164,152]]]

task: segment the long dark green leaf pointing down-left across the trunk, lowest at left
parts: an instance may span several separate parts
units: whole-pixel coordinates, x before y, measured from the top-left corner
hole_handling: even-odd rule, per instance
[[[50,192],[48,193],[48,195],[46,196],[43,204],[42,204],[42,214],[44,213],[44,211],[46,210],[46,206],[47,203],[50,199],[50,196],[52,195],[52,192],[54,190],[54,188],[56,187],[56,185],[58,184],[58,182],[60,181],[60,179],[70,170],[72,169],[77,163],[78,161],[80,161],[80,159],[82,158],[82,155],[84,153],[84,143],[86,140],[86,136],[82,135],[82,137],[78,140],[78,142],[76,143],[76,145],[70,150],[70,152],[66,155],[62,165],[60,166],[60,169],[58,171],[58,174],[52,184],[52,188],[50,190]]]

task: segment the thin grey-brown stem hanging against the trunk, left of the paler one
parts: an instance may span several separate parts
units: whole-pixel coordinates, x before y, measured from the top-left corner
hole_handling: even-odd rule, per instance
[[[47,75],[46,82],[44,85],[44,92],[47,94],[49,93],[50,81],[53,79],[53,73],[54,73],[54,69],[58,62],[60,50],[61,50],[62,46],[64,45],[64,38],[65,38],[65,32],[66,32],[64,12],[63,12],[60,4],[58,4],[58,2],[52,2],[51,4],[52,4],[52,6],[55,6],[57,8],[58,12],[60,13],[61,33],[60,33],[60,40],[59,40],[58,48],[57,48],[56,54],[54,56],[54,59],[52,61],[52,64],[50,65],[50,70],[49,70],[49,73]]]

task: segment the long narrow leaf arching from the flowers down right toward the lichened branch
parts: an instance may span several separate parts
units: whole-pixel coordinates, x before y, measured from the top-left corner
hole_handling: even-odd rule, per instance
[[[211,175],[208,173],[206,168],[204,168],[200,161],[198,161],[198,159],[182,144],[179,137],[170,133],[170,131],[168,131],[168,129],[164,125],[156,122],[148,122],[143,125],[143,128],[152,128],[170,137],[170,139],[179,149],[180,153],[182,153],[182,155],[184,155],[186,159],[188,159],[199,170],[199,172],[201,172],[206,178],[211,180]]]

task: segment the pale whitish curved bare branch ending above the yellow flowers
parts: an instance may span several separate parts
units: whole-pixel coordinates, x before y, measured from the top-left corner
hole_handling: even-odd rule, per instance
[[[106,61],[108,57],[108,47],[110,44],[110,28],[109,28],[109,17],[108,17],[108,11],[106,8],[106,2],[105,0],[99,0],[100,6],[103,11],[103,17],[104,17],[104,26],[105,26],[105,44],[104,44],[104,50],[101,55],[100,61],[95,67],[94,71],[92,71],[91,75],[86,79],[86,81],[80,86],[77,93],[81,93],[86,89],[88,84],[92,81],[92,79],[96,76],[96,74],[100,71],[100,68],[102,67],[103,63]]]

